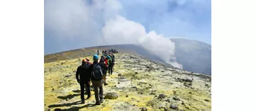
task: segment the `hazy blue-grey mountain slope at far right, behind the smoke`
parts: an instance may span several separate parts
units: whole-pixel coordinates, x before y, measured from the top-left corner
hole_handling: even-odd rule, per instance
[[[171,41],[175,42],[177,62],[184,70],[211,75],[211,45],[189,39]]]

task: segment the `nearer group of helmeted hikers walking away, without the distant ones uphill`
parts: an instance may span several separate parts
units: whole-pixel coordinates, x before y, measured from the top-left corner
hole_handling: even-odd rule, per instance
[[[75,77],[77,82],[80,84],[81,89],[81,103],[85,103],[85,90],[87,93],[87,99],[91,97],[91,89],[90,84],[92,82],[93,89],[95,92],[95,105],[100,105],[103,99],[103,86],[108,85],[106,83],[106,74],[112,75],[114,64],[115,64],[115,56],[112,53],[101,55],[100,61],[98,61],[99,57],[97,54],[93,55],[93,63],[90,63],[89,58],[85,58],[82,61],[82,65],[77,67],[77,72]]]

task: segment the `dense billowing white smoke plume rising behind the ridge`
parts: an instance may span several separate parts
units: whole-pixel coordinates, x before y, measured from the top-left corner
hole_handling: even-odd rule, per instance
[[[118,44],[139,44],[166,63],[182,69],[182,65],[176,61],[175,43],[168,37],[158,35],[155,31],[146,33],[145,28],[137,22],[129,21],[123,16],[116,16],[106,22],[102,33],[106,42],[110,44],[115,44],[116,41],[119,41]]]

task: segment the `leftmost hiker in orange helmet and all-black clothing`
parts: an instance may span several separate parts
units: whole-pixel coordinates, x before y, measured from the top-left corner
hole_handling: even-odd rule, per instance
[[[91,71],[89,69],[91,65],[87,63],[86,59],[83,59],[82,65],[77,67],[77,71],[75,73],[75,78],[77,82],[80,84],[81,89],[81,103],[85,103],[85,90],[87,92],[87,99],[91,97],[91,89],[90,89],[90,79],[91,79]]]

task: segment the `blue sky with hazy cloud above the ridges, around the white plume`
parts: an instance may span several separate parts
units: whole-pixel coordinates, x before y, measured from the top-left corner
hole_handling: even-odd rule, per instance
[[[45,54],[104,45],[98,42],[106,39],[102,27],[116,16],[142,25],[146,33],[211,44],[208,0],[45,0]]]

